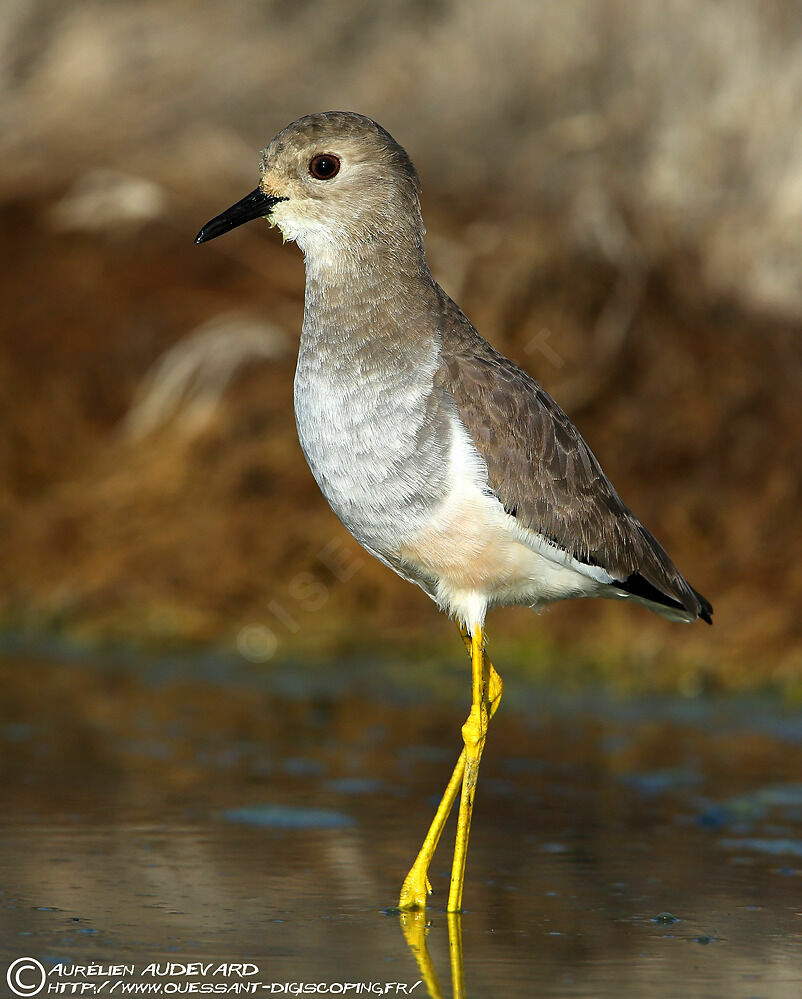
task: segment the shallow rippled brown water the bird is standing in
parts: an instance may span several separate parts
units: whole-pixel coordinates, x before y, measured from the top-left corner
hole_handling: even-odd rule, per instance
[[[456,664],[446,674],[467,687]],[[452,972],[471,997],[802,993],[802,715],[508,680],[466,912],[443,912],[444,837],[427,917],[402,921],[385,910],[456,758],[465,698],[397,676],[6,660],[0,989],[29,956],[50,994],[81,994],[78,981],[84,995],[193,982],[357,995],[425,978],[413,994],[448,996]],[[69,970],[90,962],[101,974]],[[189,962],[212,967],[169,967]],[[227,962],[248,965],[214,974]],[[18,970],[38,994],[36,967]]]

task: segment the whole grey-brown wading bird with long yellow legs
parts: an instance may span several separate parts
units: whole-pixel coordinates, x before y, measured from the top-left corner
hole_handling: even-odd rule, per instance
[[[712,624],[712,606],[559,405],[436,282],[420,179],[389,132],[351,111],[306,115],[262,151],[260,173],[195,242],[266,219],[303,251],[301,448],[359,544],[459,627],[471,660],[462,752],[398,908],[425,909],[429,867],[459,799],[447,911],[461,912],[479,764],[502,695],[488,609],[607,597]]]

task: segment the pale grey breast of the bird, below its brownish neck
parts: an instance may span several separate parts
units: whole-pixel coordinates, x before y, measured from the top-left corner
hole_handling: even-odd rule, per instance
[[[410,337],[384,313],[307,301],[295,375],[298,437],[312,474],[354,537],[396,553],[446,495],[451,429],[434,389],[439,337]],[[403,322],[403,320],[400,320]]]

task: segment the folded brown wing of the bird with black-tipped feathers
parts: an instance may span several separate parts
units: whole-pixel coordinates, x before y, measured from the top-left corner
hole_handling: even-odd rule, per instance
[[[710,621],[712,607],[621,501],[551,396],[476,332],[442,293],[438,383],[487,463],[490,487],[522,525],[617,588]]]

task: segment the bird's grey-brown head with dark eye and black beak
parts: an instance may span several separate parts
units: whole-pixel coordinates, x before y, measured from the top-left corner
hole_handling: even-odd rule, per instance
[[[265,218],[305,252],[339,246],[420,244],[420,181],[380,125],[350,111],[308,115],[262,152],[259,186],[207,222],[205,243]]]

